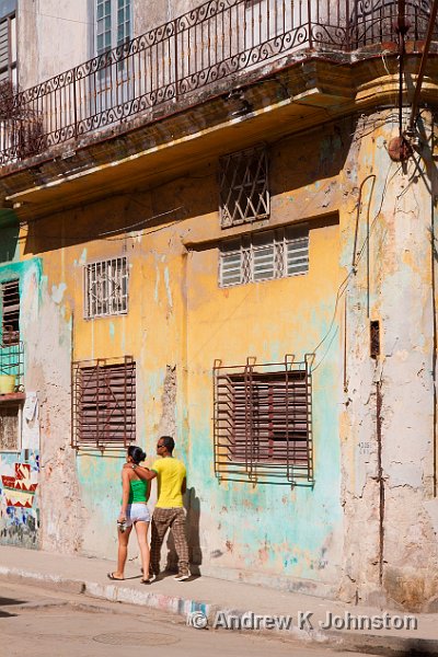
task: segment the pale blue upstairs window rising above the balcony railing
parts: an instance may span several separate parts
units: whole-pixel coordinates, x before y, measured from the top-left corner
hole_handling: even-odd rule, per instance
[[[131,38],[130,0],[96,0],[96,54]]]

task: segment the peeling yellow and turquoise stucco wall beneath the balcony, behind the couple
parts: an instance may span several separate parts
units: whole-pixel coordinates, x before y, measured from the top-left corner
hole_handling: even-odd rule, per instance
[[[227,232],[218,228],[215,161],[187,164],[185,177],[159,188],[30,224],[22,255],[44,263],[31,335],[32,385],[45,391],[44,546],[115,555],[123,453],[69,447],[70,361],[130,354],[138,442],[152,453],[160,433],[175,434],[201,572],[349,600],[383,592],[411,609],[433,603],[436,178],[428,147],[424,164],[390,160],[394,132],[381,112],[270,145],[272,218],[252,228],[306,220],[307,276],[219,289],[215,240]],[[138,232],[127,234],[130,226]],[[83,320],[83,264],[123,254],[129,313]],[[378,359],[370,320],[380,321]],[[219,482],[215,358],[300,359],[315,348],[313,488]]]

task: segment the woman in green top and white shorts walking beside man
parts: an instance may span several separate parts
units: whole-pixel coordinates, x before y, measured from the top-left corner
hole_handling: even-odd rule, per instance
[[[148,530],[150,515],[147,502],[150,495],[150,485],[149,481],[141,480],[136,473],[136,468],[141,461],[145,461],[145,459],[146,453],[140,447],[134,445],[128,447],[126,464],[122,470],[122,509],[117,519],[117,570],[108,573],[110,579],[125,579],[125,564],[128,555],[128,542],[132,525],[136,528],[138,546],[140,549],[142,572],[149,573]],[[143,576],[141,583],[149,584],[149,579]]]

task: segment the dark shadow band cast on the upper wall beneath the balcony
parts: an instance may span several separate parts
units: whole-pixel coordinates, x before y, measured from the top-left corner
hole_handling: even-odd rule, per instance
[[[344,169],[354,131],[355,119],[347,117],[301,136],[289,136],[281,140],[280,146],[269,149],[270,194],[279,197],[280,205],[286,204],[281,207],[287,208],[290,220],[303,219],[302,212],[309,201],[307,187],[315,183],[319,212],[326,215],[335,209],[335,206],[331,206],[331,198],[335,196],[336,185],[332,182],[327,186],[324,181]],[[152,185],[152,191],[126,191],[117,196],[108,196],[102,187],[101,200],[31,221],[24,253],[43,254],[97,239],[112,241],[131,230],[151,234],[163,226],[217,214],[217,159],[203,164],[201,170],[197,169],[196,162],[187,162],[187,166],[192,166],[194,173],[181,174],[176,181]],[[128,180],[126,188],[129,189]],[[287,199],[280,201],[283,194],[287,194]],[[278,215],[285,210],[277,207],[273,211]]]

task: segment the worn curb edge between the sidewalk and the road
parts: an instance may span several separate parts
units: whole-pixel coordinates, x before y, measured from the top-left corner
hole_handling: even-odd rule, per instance
[[[163,612],[170,612],[189,619],[191,614],[199,613],[204,616],[205,623],[200,625],[192,624],[195,629],[206,629],[208,624],[212,626],[218,612],[226,615],[232,615],[241,619],[251,613],[238,609],[223,609],[219,604],[201,602],[189,598],[178,596],[168,596],[165,593],[153,592],[151,590],[137,590],[124,588],[114,584],[97,584],[94,581],[83,581],[80,579],[68,579],[59,575],[43,575],[25,570],[22,568],[9,568],[0,566],[0,579],[41,586],[48,590],[57,590],[67,593],[83,595],[89,598],[106,600],[108,602],[120,602],[157,609]],[[216,631],[219,631],[217,629]],[[227,630],[224,630],[227,631]],[[273,632],[281,638],[304,642],[307,644],[324,644],[341,648],[342,650],[356,650],[361,653],[372,653],[374,655],[389,655],[390,657],[438,657],[438,639],[411,638],[392,635],[378,634],[351,634],[345,631],[323,631],[323,630],[301,630],[290,629],[260,629],[260,630],[239,630],[246,634],[261,634],[273,636]]]

